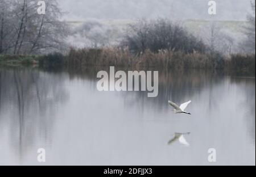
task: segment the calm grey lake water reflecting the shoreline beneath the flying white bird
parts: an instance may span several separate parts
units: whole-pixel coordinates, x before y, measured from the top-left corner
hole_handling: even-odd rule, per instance
[[[0,68],[0,165],[255,165],[255,77],[160,71],[147,98],[98,91],[96,71]],[[168,144],[175,132],[190,145]]]

